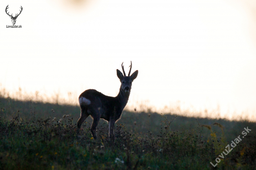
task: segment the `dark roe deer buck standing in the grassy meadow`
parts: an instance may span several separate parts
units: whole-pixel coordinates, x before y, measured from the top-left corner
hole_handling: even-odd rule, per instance
[[[93,118],[93,124],[91,127],[91,133],[96,141],[96,127],[103,118],[108,121],[108,135],[110,141],[115,141],[114,127],[115,122],[121,117],[122,111],[126,106],[129,95],[132,89],[132,82],[138,75],[138,70],[136,70],[131,76],[132,62],[130,65],[130,71],[128,76],[126,76],[123,68],[123,63],[121,64],[123,74],[118,69],[116,69],[117,77],[120,79],[121,87],[119,93],[116,97],[110,97],[98,92],[94,89],[88,89],[81,93],[79,96],[79,104],[81,108],[81,117],[77,121],[77,132],[81,124],[88,118],[89,115]]]

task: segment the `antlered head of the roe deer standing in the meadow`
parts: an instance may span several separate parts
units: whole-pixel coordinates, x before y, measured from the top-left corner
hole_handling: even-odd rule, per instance
[[[118,69],[116,70],[117,77],[121,81],[121,88],[120,88],[120,90],[124,91],[127,94],[130,94],[131,89],[132,89],[132,82],[138,76],[138,70],[136,70],[130,76],[130,73],[131,73],[131,70],[132,70],[132,61],[131,61],[131,65],[129,66],[130,67],[130,71],[128,73],[128,76],[126,76],[126,74],[124,72],[124,68],[123,68],[123,63],[122,63],[121,66],[122,66],[123,74]]]

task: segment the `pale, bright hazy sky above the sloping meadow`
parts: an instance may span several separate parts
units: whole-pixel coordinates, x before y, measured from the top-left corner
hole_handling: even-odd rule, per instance
[[[23,11],[16,25],[4,9]],[[13,9],[12,9],[13,8]],[[256,121],[256,4],[249,0],[0,2],[0,83],[74,98],[116,96],[116,69],[139,70],[129,108]],[[16,9],[16,11],[15,11]],[[78,100],[77,100],[78,104]]]

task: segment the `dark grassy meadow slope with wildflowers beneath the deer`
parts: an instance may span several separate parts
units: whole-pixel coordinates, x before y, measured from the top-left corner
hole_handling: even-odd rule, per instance
[[[256,167],[255,123],[123,111],[115,126],[115,144],[111,144],[104,120],[97,128],[97,143],[90,134],[91,118],[82,124],[77,135],[79,116],[78,106],[1,98],[0,170]],[[244,129],[247,127],[249,133]]]

